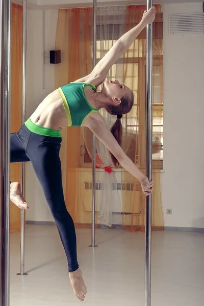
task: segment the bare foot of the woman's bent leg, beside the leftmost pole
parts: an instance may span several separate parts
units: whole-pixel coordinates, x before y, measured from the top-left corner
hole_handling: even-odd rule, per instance
[[[22,196],[20,184],[17,182],[10,184],[10,200],[21,209],[29,209],[27,202]]]

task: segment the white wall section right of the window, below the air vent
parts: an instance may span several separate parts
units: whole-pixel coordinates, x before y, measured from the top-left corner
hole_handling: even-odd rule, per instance
[[[169,13],[201,11],[201,3],[163,5],[166,226],[204,227],[204,34],[168,34]]]

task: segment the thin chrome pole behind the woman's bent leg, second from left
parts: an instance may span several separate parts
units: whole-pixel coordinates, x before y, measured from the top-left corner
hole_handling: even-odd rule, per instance
[[[25,122],[25,64],[26,64],[26,27],[27,27],[27,0],[22,3],[22,125]],[[25,196],[25,163],[21,163],[21,188]],[[24,272],[24,241],[25,241],[25,211],[21,209],[20,214],[20,273],[17,275],[28,275]]]

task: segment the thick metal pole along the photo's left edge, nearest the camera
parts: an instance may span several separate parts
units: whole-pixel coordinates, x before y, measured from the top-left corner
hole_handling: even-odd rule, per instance
[[[10,74],[11,74],[11,1],[0,2],[0,306],[10,304]]]

